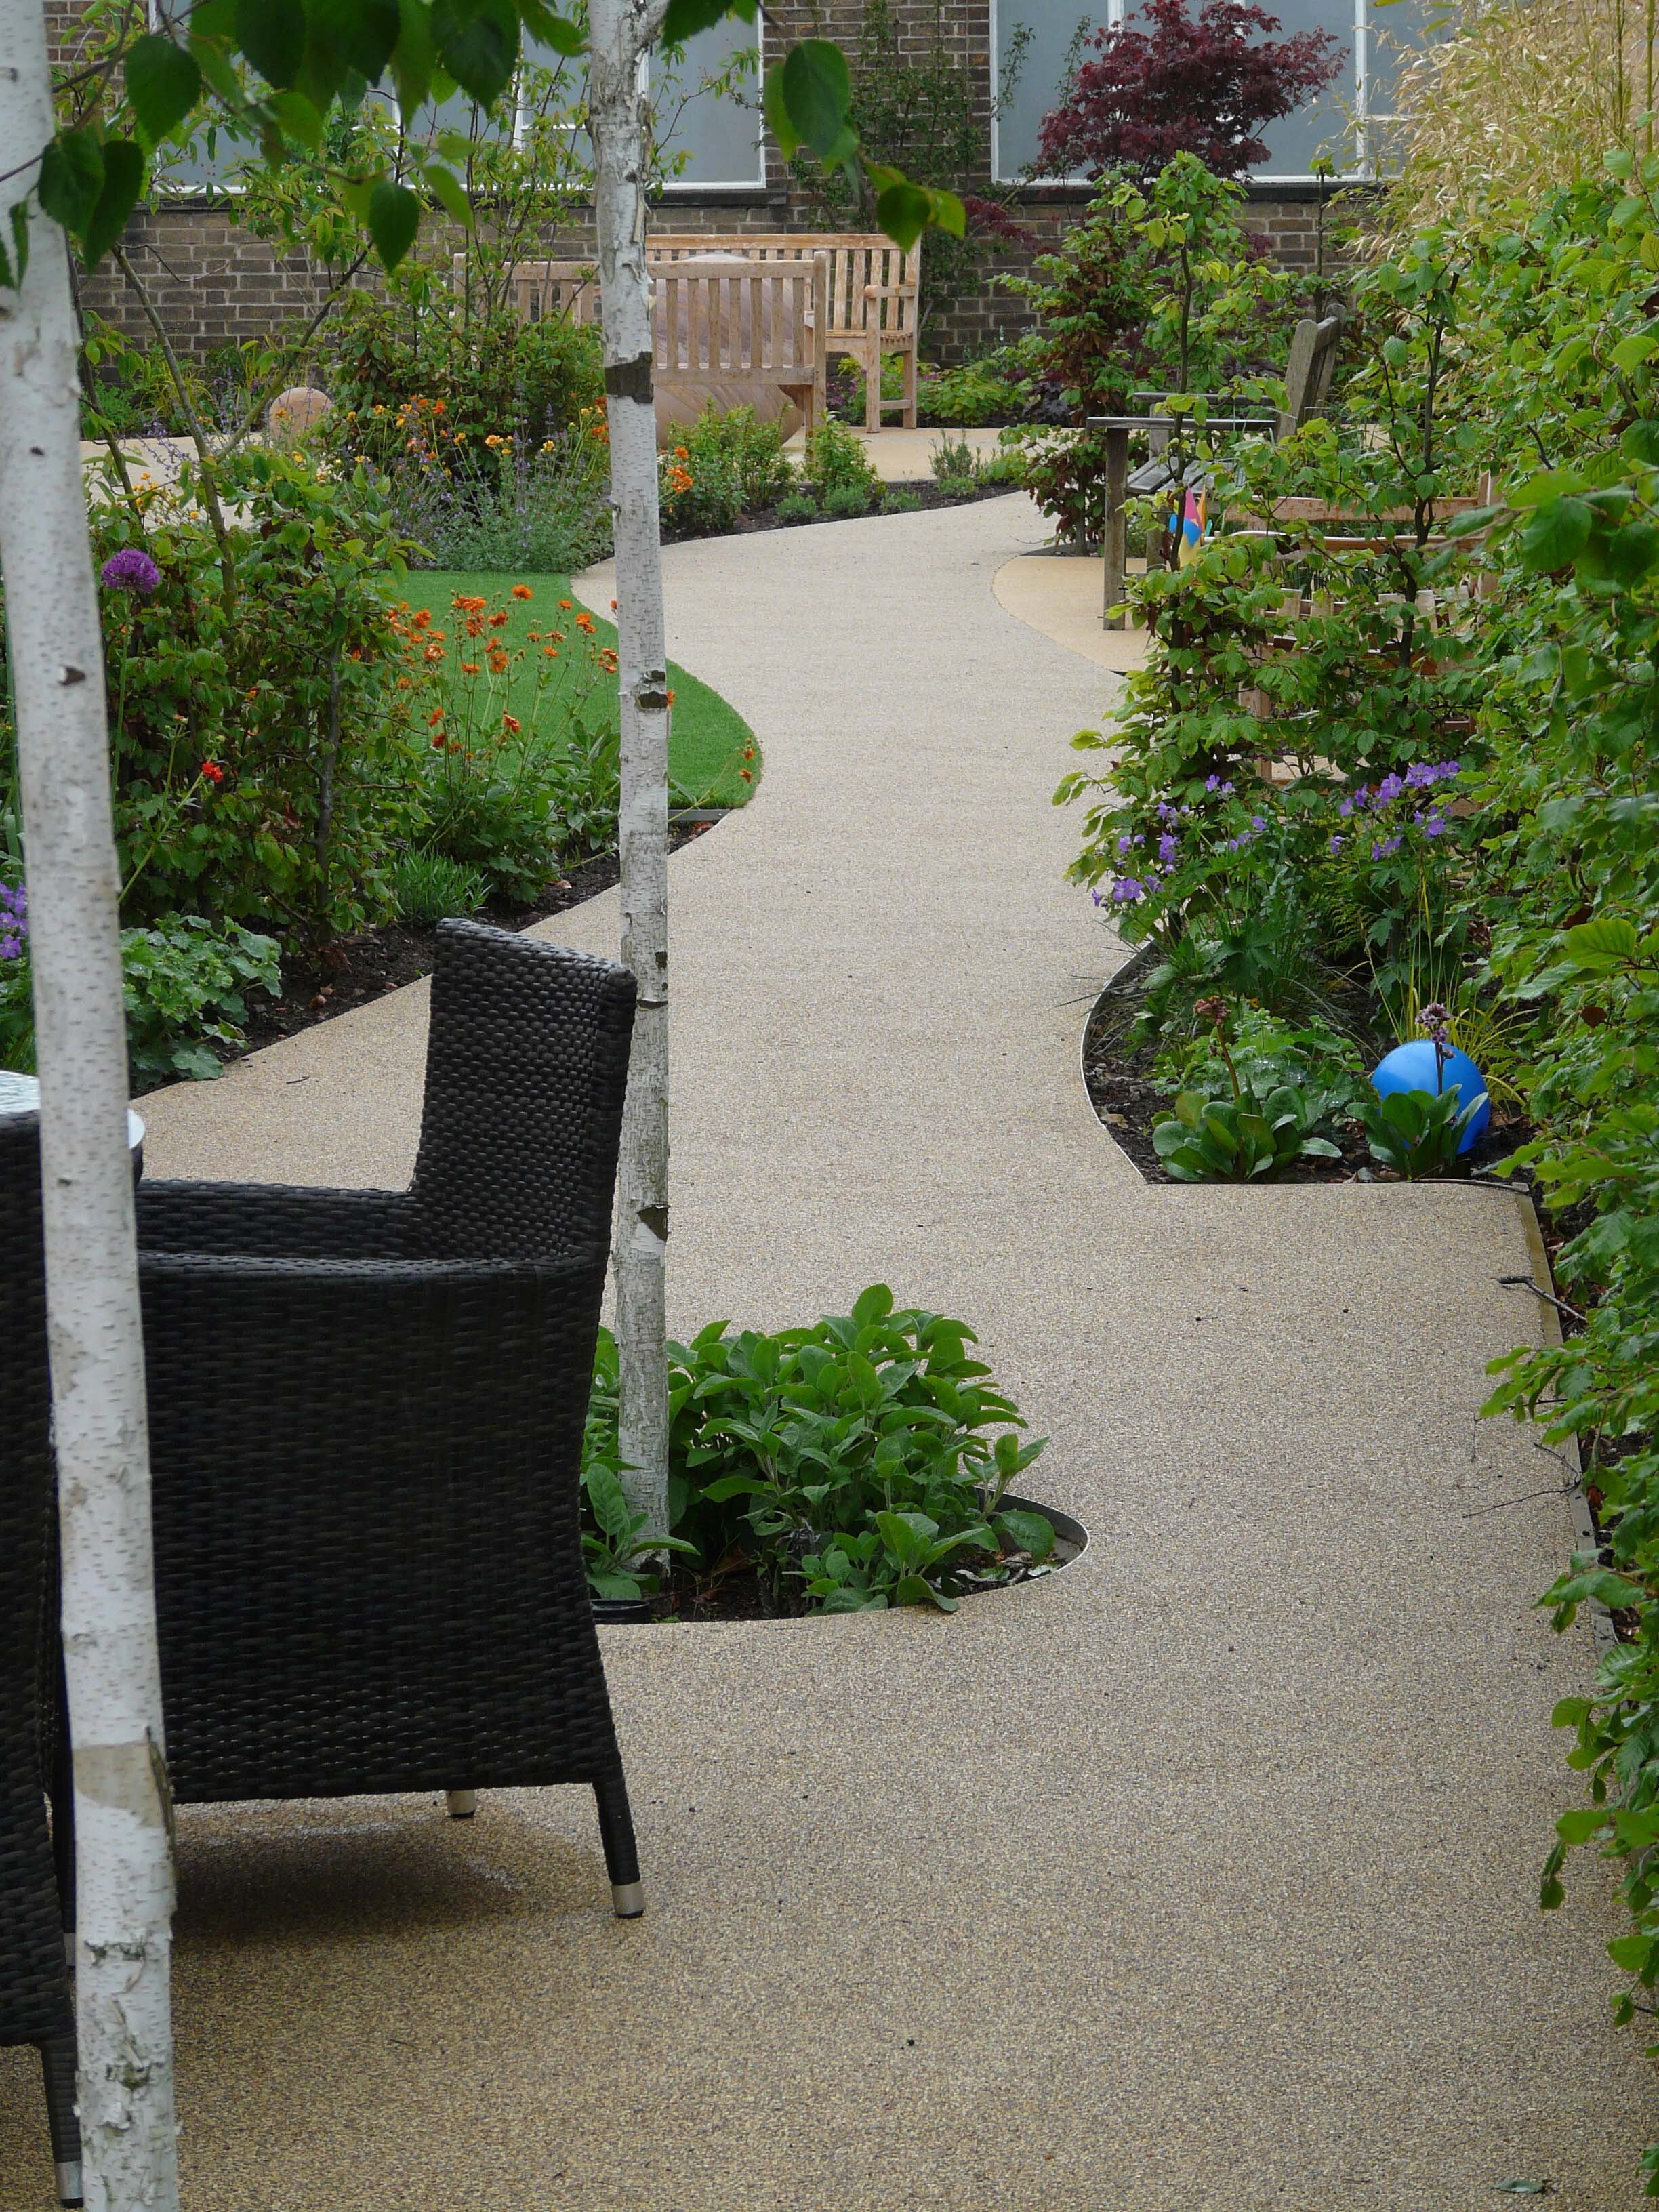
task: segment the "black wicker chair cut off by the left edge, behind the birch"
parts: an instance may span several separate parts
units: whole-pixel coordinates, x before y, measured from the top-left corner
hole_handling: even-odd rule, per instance
[[[75,2011],[64,1960],[46,1781],[69,1851],[66,1765],[58,1732],[46,1276],[40,1250],[40,1117],[0,1117],[0,2044],[35,2044],[58,2194],[82,2201],[75,2121]],[[55,1772],[53,1772],[55,1770]]]

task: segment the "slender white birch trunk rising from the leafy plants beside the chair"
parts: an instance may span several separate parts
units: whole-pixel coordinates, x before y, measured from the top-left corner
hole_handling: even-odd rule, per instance
[[[622,661],[622,958],[639,984],[617,1172],[622,1486],[646,1535],[668,1533],[668,653],[657,515],[657,409],[646,285],[641,58],[664,7],[593,0],[588,133],[599,228],[611,511]]]

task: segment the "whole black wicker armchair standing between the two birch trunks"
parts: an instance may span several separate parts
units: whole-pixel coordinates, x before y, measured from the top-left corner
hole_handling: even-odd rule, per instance
[[[577,1513],[633,1004],[445,922],[407,1192],[139,1188],[179,1801],[588,1783],[644,1911]]]

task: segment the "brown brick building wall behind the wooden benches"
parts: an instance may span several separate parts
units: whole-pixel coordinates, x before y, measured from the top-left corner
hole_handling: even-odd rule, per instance
[[[49,0],[49,31],[60,60],[71,60],[82,0]],[[991,7],[989,0],[891,0],[902,55],[927,58],[936,44],[967,60],[982,86],[980,122],[989,148],[991,122]],[[830,35],[856,46],[863,0],[776,0],[772,20],[781,35]],[[989,175],[969,177],[964,190],[991,190]],[[1024,301],[1002,290],[1002,274],[1022,274],[1037,252],[1048,252],[1086,204],[1086,192],[1066,188],[1022,190],[1018,217],[1035,234],[1035,246],[998,248],[980,263],[980,279],[927,334],[927,354],[960,361],[1013,336],[1029,321]],[[1259,192],[1245,223],[1270,241],[1285,268],[1314,265],[1314,199]],[[810,201],[794,186],[776,148],[765,148],[765,186],[754,190],[675,190],[664,195],[664,228],[708,230],[741,237],[745,230],[810,228]],[[139,210],[128,228],[128,252],[142,270],[175,343],[192,354],[237,338],[261,338],[292,330],[307,319],[325,290],[325,272],[305,254],[274,254],[265,243],[237,230],[223,208],[208,201],[161,199]],[[591,223],[577,223],[546,241],[549,252],[584,257],[593,252]],[[927,248],[922,248],[927,252]],[[365,279],[372,283],[372,279]],[[84,305],[144,334],[144,319],[115,263],[104,263],[82,285]]]

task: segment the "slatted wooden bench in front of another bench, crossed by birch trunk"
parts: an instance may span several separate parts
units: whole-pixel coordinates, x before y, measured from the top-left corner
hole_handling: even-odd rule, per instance
[[[721,414],[754,407],[761,420],[794,407],[807,429],[821,422],[827,288],[830,270],[821,259],[708,252],[697,261],[653,265],[657,438],[668,442],[672,429],[695,422],[710,405]],[[520,261],[513,307],[526,323],[551,316],[597,323],[597,272],[591,261]]]

